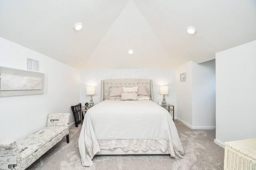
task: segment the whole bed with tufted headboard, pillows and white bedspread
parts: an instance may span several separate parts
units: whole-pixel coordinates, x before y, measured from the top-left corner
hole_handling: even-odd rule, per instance
[[[92,166],[96,154],[184,154],[170,113],[153,102],[149,79],[102,80],[102,102],[86,112],[78,146],[83,166]]]

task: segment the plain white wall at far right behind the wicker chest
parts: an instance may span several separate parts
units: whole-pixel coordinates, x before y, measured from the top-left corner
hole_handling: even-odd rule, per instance
[[[216,139],[256,137],[256,41],[216,53]]]

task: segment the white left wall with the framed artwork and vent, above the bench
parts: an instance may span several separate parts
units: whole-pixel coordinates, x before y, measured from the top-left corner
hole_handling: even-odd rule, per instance
[[[0,66],[26,70],[26,57],[48,74],[47,94],[0,97],[0,138],[19,140],[46,126],[49,113],[70,113],[79,102],[78,70],[0,37]]]

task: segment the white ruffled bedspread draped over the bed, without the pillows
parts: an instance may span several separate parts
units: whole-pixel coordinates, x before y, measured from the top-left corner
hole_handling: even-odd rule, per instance
[[[162,150],[183,158],[183,147],[170,113],[150,100],[104,100],[84,117],[79,151],[83,166],[92,166],[100,149]]]

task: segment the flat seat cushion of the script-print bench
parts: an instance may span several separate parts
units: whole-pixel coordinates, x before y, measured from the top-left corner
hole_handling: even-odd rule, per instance
[[[32,153],[36,152],[39,148],[46,145],[60,133],[67,131],[65,126],[51,126],[45,127],[36,133],[17,142],[20,151],[21,160],[24,160]]]

